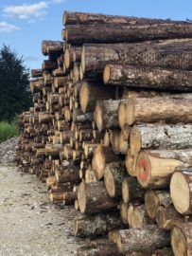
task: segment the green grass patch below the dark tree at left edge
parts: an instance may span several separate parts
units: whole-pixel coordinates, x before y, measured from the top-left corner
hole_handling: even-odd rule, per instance
[[[0,143],[19,135],[18,125],[15,121],[0,121]]]

